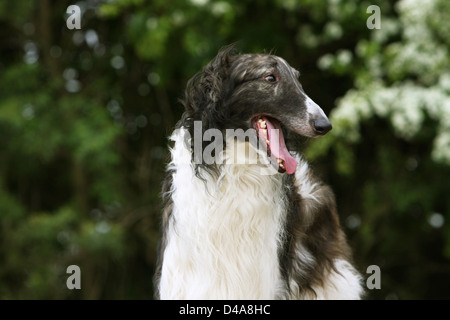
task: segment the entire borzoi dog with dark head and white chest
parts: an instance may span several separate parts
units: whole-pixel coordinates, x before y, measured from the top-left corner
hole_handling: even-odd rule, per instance
[[[295,149],[331,130],[299,72],[221,50],[189,80],[171,136],[160,299],[359,299],[332,191]]]

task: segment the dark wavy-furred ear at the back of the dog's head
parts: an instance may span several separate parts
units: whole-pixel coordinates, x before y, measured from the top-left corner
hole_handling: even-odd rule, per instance
[[[183,104],[195,120],[203,120],[202,114],[206,115],[220,106],[224,81],[229,77],[229,67],[235,55],[234,44],[222,48],[201,72],[188,81]]]

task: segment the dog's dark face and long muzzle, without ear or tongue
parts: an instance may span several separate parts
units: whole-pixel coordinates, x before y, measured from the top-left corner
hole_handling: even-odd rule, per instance
[[[324,135],[331,130],[331,123],[306,95],[299,76],[297,70],[277,56],[238,56],[231,64],[230,81],[234,88],[230,107],[250,121],[266,116],[303,136]]]

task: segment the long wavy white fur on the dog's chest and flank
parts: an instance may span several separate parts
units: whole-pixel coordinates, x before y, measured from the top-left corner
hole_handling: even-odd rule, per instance
[[[278,248],[283,239],[286,196],[282,175],[261,175],[258,164],[227,164],[236,155],[225,154],[221,177],[206,182],[194,175],[191,154],[184,144],[185,131],[172,135],[169,169],[173,172],[172,220],[160,280],[161,299],[279,299],[302,296],[291,285],[287,296],[280,275]],[[235,159],[234,159],[235,160]],[[308,184],[306,162],[297,156],[296,180],[304,199],[317,201]],[[314,258],[301,245],[297,256],[306,263]],[[309,262],[307,260],[310,260]],[[360,279],[346,261],[336,261],[319,299],[357,299]]]

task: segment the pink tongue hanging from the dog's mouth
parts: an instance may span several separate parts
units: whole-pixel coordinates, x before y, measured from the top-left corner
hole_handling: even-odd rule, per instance
[[[283,159],[286,172],[288,174],[293,174],[295,169],[297,169],[297,161],[291,156],[286,148],[283,131],[281,130],[280,124],[278,121],[270,122],[266,117],[262,117],[262,119],[267,125],[271,157]]]

